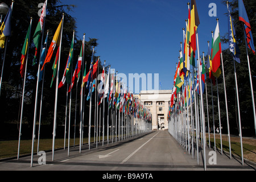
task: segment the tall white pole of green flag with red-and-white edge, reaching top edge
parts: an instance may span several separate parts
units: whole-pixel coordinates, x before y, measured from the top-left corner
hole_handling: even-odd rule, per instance
[[[47,0],[46,0],[46,10],[47,10]],[[45,10],[45,11],[46,11]],[[43,30],[42,33],[44,32],[44,25],[45,25],[46,19],[44,18],[44,23],[43,23]],[[41,48],[40,48],[40,58],[39,60],[41,60],[42,57],[42,43],[43,43],[43,38],[44,38],[44,34],[42,34],[42,41],[41,41]],[[33,135],[32,135],[32,149],[31,149],[31,163],[30,163],[30,167],[33,166],[33,151],[34,151],[34,139],[35,139],[35,125],[36,125],[36,111],[37,111],[37,107],[38,107],[38,86],[39,86],[39,76],[40,76],[40,61],[38,63],[38,81],[36,82],[36,98],[35,98],[35,110],[34,110],[34,126],[33,126]]]

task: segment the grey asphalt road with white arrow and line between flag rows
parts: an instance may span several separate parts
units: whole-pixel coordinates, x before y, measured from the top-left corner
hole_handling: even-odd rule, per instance
[[[108,171],[108,175],[117,171],[203,171],[203,153],[199,152],[199,164],[196,155],[192,159],[168,131],[153,131],[139,137],[110,142],[104,147],[99,144],[70,148],[70,155],[65,150],[55,150],[54,161],[52,152],[46,152],[46,164],[40,165],[40,156],[34,155],[33,167],[30,167],[31,156],[20,157],[0,162],[0,171]],[[255,171],[255,167],[242,165],[240,160],[229,159],[225,154],[216,152],[216,164],[209,164],[207,148],[207,170],[209,171]],[[104,177],[104,176],[100,176]],[[107,176],[105,176],[107,177]],[[111,177],[111,176],[109,176]],[[113,177],[113,176],[112,176]],[[127,177],[127,176],[126,176]],[[147,176],[148,177],[148,176]]]

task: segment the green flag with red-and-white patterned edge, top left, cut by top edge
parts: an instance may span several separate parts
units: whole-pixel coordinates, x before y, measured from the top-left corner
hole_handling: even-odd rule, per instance
[[[38,26],[36,26],[36,30],[33,36],[34,44],[35,44],[35,56],[33,60],[33,65],[35,65],[36,55],[38,54],[38,50],[40,48],[40,38],[43,31],[44,17],[46,16],[46,1],[44,2],[42,13],[40,19],[38,21]]]

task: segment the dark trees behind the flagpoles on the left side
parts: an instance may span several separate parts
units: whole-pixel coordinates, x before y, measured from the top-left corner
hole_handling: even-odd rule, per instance
[[[8,6],[10,6],[11,1],[3,1]],[[23,79],[20,77],[19,68],[20,68],[20,57],[22,46],[24,43],[24,38],[27,33],[27,27],[30,23],[30,17],[32,20],[32,28],[31,28],[31,37],[34,35],[35,28],[38,24],[39,16],[38,12],[41,7],[38,7],[39,3],[42,1],[15,1],[13,6],[13,14],[11,19],[11,36],[9,38],[9,43],[7,46],[6,52],[6,62],[5,69],[3,72],[3,82],[2,82],[2,90],[0,97],[0,128],[4,130],[1,125],[6,122],[19,122],[20,117],[20,98],[22,97],[22,87],[23,87]],[[47,3],[47,15],[46,15],[46,24],[44,38],[46,38],[46,32],[49,30],[48,37],[48,46],[50,41],[55,34],[56,28],[59,25],[59,22],[62,18],[63,13],[64,16],[64,26],[63,26],[63,39],[61,46],[61,57],[60,57],[60,77],[63,75],[65,63],[68,58],[69,49],[72,41],[73,30],[76,30],[76,20],[71,15],[69,15],[69,11],[73,10],[75,5],[63,5],[59,0],[48,1]],[[35,55],[35,45],[30,44],[30,52],[28,55],[28,63],[27,63],[27,81],[26,81],[26,90],[25,90],[25,100],[24,100],[24,110],[23,110],[23,121],[24,123],[28,123],[32,126],[34,121],[34,106],[35,106],[35,95],[36,95],[36,82],[37,82],[37,71],[38,71],[38,60],[40,53],[37,55],[37,63],[36,65],[32,65],[32,60]],[[74,46],[74,62],[77,61],[76,57],[80,53],[82,40],[77,40],[77,36],[75,34],[75,46]],[[89,63],[92,56],[92,46],[97,46],[97,39],[89,39],[85,45],[85,60]],[[3,60],[3,50],[1,52],[1,59]],[[56,51],[55,51],[56,52]],[[51,79],[52,79],[52,64],[54,60],[54,56],[56,53],[53,52],[51,63],[46,65],[45,68],[45,79],[44,79],[44,94],[43,94],[43,113],[42,113],[42,122],[46,124],[53,123],[53,109],[54,109],[54,100],[55,100],[55,86],[50,88]],[[94,54],[95,55],[95,54]],[[96,60],[96,57],[94,57]],[[73,69],[75,69],[75,64],[72,65]],[[2,61],[0,63],[0,67],[2,68]],[[88,67],[86,67],[89,70]],[[61,78],[60,78],[61,79]],[[81,82],[82,79],[80,79]],[[42,85],[40,82],[39,85]],[[55,85],[55,84],[53,84]],[[39,93],[41,93],[41,88],[39,88]],[[58,107],[58,123],[63,122],[63,118],[65,117],[65,97],[66,97],[66,89],[59,89],[59,107]],[[72,96],[75,98],[75,96]],[[40,97],[39,97],[40,101]],[[40,102],[39,102],[40,103]],[[38,116],[39,116],[39,106],[38,105]],[[75,107],[75,105],[73,106]],[[32,131],[31,131],[32,132]],[[18,136],[18,133],[17,133]]]

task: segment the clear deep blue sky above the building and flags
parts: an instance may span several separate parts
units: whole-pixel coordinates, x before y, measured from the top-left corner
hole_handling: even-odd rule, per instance
[[[62,0],[76,5],[70,14],[77,21],[77,36],[97,38],[97,56],[118,73],[159,74],[161,89],[172,89],[180,42],[183,42],[188,6],[184,0]],[[209,16],[210,3],[217,7]],[[211,33],[219,19],[220,35],[228,32],[226,5],[221,0],[197,0],[199,13],[199,51],[208,52]],[[222,45],[222,49],[228,47]],[[197,53],[196,53],[197,57]],[[154,84],[153,88],[154,88]]]

